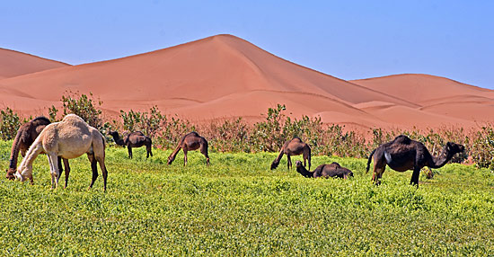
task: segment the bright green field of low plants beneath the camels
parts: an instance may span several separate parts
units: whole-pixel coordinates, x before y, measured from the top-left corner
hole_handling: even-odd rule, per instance
[[[8,164],[12,142],[0,142]],[[494,255],[494,173],[448,164],[432,180],[389,169],[374,186],[366,160],[337,161],[349,180],[305,179],[276,154],[109,147],[108,191],[91,182],[85,156],[71,161],[67,189],[50,190],[47,157],[34,164],[34,185],[0,180],[0,256],[12,255]],[[301,159],[296,156],[295,160]],[[295,161],[294,161],[295,163]],[[312,168],[312,169],[313,169]],[[4,175],[2,175],[4,176]],[[65,179],[62,176],[60,182]]]

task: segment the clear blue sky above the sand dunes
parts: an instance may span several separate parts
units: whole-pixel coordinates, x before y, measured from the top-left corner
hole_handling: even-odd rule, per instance
[[[342,79],[441,75],[494,89],[494,1],[4,1],[0,48],[69,64],[228,33]]]

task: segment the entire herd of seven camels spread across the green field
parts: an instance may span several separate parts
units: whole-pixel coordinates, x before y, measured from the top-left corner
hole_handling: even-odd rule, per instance
[[[146,158],[153,156],[152,141],[142,132],[136,131],[120,138],[117,131],[110,131],[109,135],[113,137],[115,143],[119,146],[128,147],[128,157],[132,158],[132,147],[146,146]],[[172,164],[175,156],[183,151],[183,164],[187,164],[187,152],[199,149],[200,153],[206,156],[206,164],[209,165],[209,156],[207,155],[207,140],[200,137],[197,132],[190,132],[181,137],[178,145],[168,157],[168,164]],[[375,184],[380,183],[386,165],[397,172],[412,170],[410,184],[419,186],[420,169],[424,166],[430,168],[440,168],[444,166],[451,158],[464,151],[464,146],[447,142],[441,154],[433,156],[426,146],[419,141],[415,141],[406,136],[395,137],[392,141],[384,143],[375,148],[369,155],[366,173],[369,171],[371,162],[374,160],[374,173],[372,181]],[[21,164],[17,166],[19,152],[23,157]],[[68,159],[73,159],[86,154],[93,178],[89,185],[91,189],[93,183],[98,177],[98,164],[103,176],[103,190],[106,191],[106,182],[108,171],[105,160],[105,138],[98,129],[88,125],[82,118],[75,114],[68,114],[59,121],[50,123],[45,117],[38,117],[26,122],[17,131],[13,140],[13,146],[10,155],[9,167],[6,170],[6,178],[10,180],[18,179],[22,182],[29,179],[33,183],[32,163],[40,154],[48,155],[49,171],[51,174],[51,188],[57,188],[60,174],[63,171],[62,163],[65,166],[65,187],[68,182],[70,166]],[[299,137],[288,140],[279,151],[278,157],[271,164],[271,170],[278,167],[279,161],[283,155],[287,155],[288,170],[292,167],[291,155],[303,155],[304,164],[296,162],[296,171],[308,178],[329,178],[338,177],[347,179],[353,176],[353,173],[338,163],[319,165],[313,172],[311,169],[311,147],[305,144]],[[306,162],[309,164],[309,170],[305,168]]]

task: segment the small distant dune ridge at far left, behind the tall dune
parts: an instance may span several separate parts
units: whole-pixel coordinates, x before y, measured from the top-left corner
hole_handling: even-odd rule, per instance
[[[70,65],[16,50],[0,48],[0,79],[31,74],[63,66]]]

